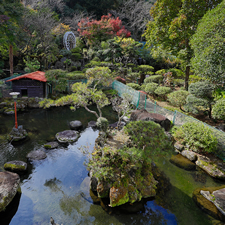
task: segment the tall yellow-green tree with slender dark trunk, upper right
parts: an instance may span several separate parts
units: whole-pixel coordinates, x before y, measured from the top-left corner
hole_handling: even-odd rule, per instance
[[[222,0],[157,0],[150,14],[144,36],[148,46],[162,46],[182,59],[185,66],[185,88],[188,90],[190,61],[193,51],[190,38],[198,21]]]

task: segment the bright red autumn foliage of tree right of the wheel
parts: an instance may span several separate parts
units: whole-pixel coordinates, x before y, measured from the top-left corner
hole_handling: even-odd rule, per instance
[[[111,14],[103,15],[101,20],[82,19],[78,23],[78,32],[89,44],[105,41],[115,36],[129,37],[131,33],[122,26],[122,21]]]

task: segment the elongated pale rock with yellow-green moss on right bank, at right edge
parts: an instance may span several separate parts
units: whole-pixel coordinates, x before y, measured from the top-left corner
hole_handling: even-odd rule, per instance
[[[206,156],[199,155],[198,160],[195,162],[197,166],[203,169],[210,176],[225,180],[225,171],[216,162],[213,162]]]

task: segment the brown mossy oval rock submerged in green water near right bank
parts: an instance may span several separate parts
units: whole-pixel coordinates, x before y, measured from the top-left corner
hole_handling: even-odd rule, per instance
[[[196,169],[195,163],[191,162],[189,159],[182,156],[181,154],[173,155],[170,158],[170,162],[182,169],[185,169],[185,170],[195,170]]]

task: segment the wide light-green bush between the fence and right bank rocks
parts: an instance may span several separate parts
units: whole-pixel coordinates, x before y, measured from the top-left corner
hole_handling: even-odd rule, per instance
[[[201,123],[188,122],[181,127],[173,128],[172,132],[177,141],[192,151],[215,153],[217,150],[217,138],[209,127]]]

